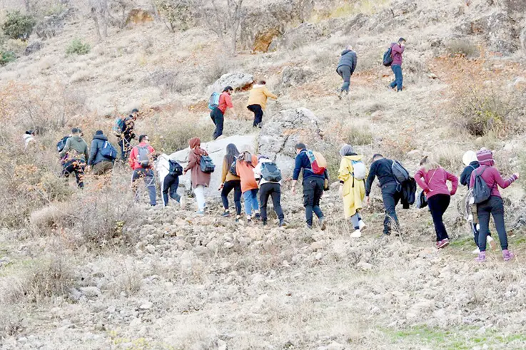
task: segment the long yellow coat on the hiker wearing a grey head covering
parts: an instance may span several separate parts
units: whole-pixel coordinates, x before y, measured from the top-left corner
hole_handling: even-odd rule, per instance
[[[365,181],[355,180],[353,177],[353,160],[357,162],[362,158],[361,155],[346,155],[340,162],[338,180],[343,182],[343,212],[346,219],[355,215],[363,207]]]

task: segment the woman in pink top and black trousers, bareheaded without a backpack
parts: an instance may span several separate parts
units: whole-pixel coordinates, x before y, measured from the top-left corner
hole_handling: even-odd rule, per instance
[[[457,192],[458,178],[427,156],[420,161],[420,167],[420,170],[415,173],[415,180],[424,190],[428,201],[437,234],[436,247],[442,249],[450,244],[442,216],[450,205],[451,196]],[[447,181],[451,182],[451,190],[447,188]]]

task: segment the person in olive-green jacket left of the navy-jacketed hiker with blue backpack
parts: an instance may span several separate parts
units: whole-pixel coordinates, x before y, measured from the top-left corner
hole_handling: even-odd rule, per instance
[[[59,155],[63,163],[62,175],[69,177],[71,173],[75,173],[77,185],[84,188],[84,170],[89,153],[88,144],[81,138],[81,133],[79,128],[71,129],[71,137],[67,139]]]

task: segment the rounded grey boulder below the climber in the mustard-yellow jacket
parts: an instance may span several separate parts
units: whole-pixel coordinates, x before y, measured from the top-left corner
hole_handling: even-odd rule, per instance
[[[320,119],[307,108],[282,110],[263,124],[258,153],[267,155],[278,164],[284,177],[290,177],[296,156],[294,146],[300,142],[323,150]]]

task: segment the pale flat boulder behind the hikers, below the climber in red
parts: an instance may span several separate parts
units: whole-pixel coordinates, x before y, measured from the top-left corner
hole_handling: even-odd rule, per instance
[[[209,143],[203,143],[201,148],[205,149],[210,157],[213,160],[213,163],[216,165],[216,170],[212,173],[210,187],[206,188],[205,195],[207,197],[219,197],[221,192],[218,191],[219,185],[221,185],[221,171],[223,170],[223,157],[225,156],[226,145],[233,143],[241,150],[244,145],[255,145],[256,144],[256,135],[243,135],[243,136],[230,136],[228,138],[223,138],[221,140],[211,141]],[[185,150],[180,150],[176,153],[169,155],[171,160],[176,160],[179,164],[186,167],[188,164],[188,153],[190,149],[186,148]],[[168,159],[160,157],[158,158],[158,168],[166,169],[168,167]],[[190,189],[190,172],[186,175],[179,177],[179,183],[183,185],[187,190]]]

